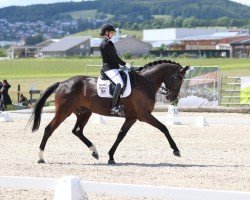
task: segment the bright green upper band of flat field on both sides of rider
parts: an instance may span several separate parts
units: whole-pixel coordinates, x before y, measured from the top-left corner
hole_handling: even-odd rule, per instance
[[[155,59],[131,59],[142,66]],[[250,76],[249,59],[172,59],[181,65],[219,66],[222,75]],[[86,65],[101,65],[101,58],[46,58],[0,61],[0,78],[70,77],[86,72]],[[96,69],[97,70],[97,69]],[[93,71],[98,74],[98,71]]]

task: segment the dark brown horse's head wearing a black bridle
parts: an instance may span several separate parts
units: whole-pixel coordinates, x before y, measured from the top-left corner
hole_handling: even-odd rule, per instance
[[[177,69],[177,68],[176,68]],[[166,75],[164,84],[165,84],[165,95],[166,99],[170,102],[173,102],[177,99],[181,85],[183,83],[185,74],[187,70],[189,69],[189,66],[186,67],[179,67],[177,71],[174,72],[173,75],[169,76],[169,74]]]

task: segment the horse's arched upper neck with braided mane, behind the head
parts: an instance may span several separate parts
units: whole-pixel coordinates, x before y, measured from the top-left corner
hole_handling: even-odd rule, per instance
[[[142,73],[142,76],[149,79],[153,85],[152,87],[155,89],[155,92],[158,91],[161,84],[164,82],[166,74],[172,74],[173,68],[165,65],[156,65],[152,67],[150,71],[145,71]]]

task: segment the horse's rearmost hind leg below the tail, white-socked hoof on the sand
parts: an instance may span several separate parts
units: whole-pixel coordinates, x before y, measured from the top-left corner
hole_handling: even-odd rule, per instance
[[[56,115],[54,118],[51,120],[49,125],[45,128],[43,138],[39,147],[39,152],[38,152],[38,163],[45,163],[43,159],[43,153],[44,149],[46,146],[46,143],[49,139],[49,137],[52,135],[52,133],[56,130],[56,128],[69,116],[70,114],[65,114],[64,112],[61,112],[58,110],[56,112]]]

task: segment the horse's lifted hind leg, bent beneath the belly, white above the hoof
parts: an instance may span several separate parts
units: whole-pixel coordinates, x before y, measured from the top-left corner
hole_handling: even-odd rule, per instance
[[[98,152],[96,150],[95,145],[88,140],[83,134],[83,129],[85,125],[88,123],[90,116],[92,115],[92,112],[90,110],[84,109],[83,111],[80,110],[80,112],[75,112],[75,115],[77,117],[76,124],[72,130],[72,133],[78,137],[92,152],[92,156],[95,159],[99,159]]]

